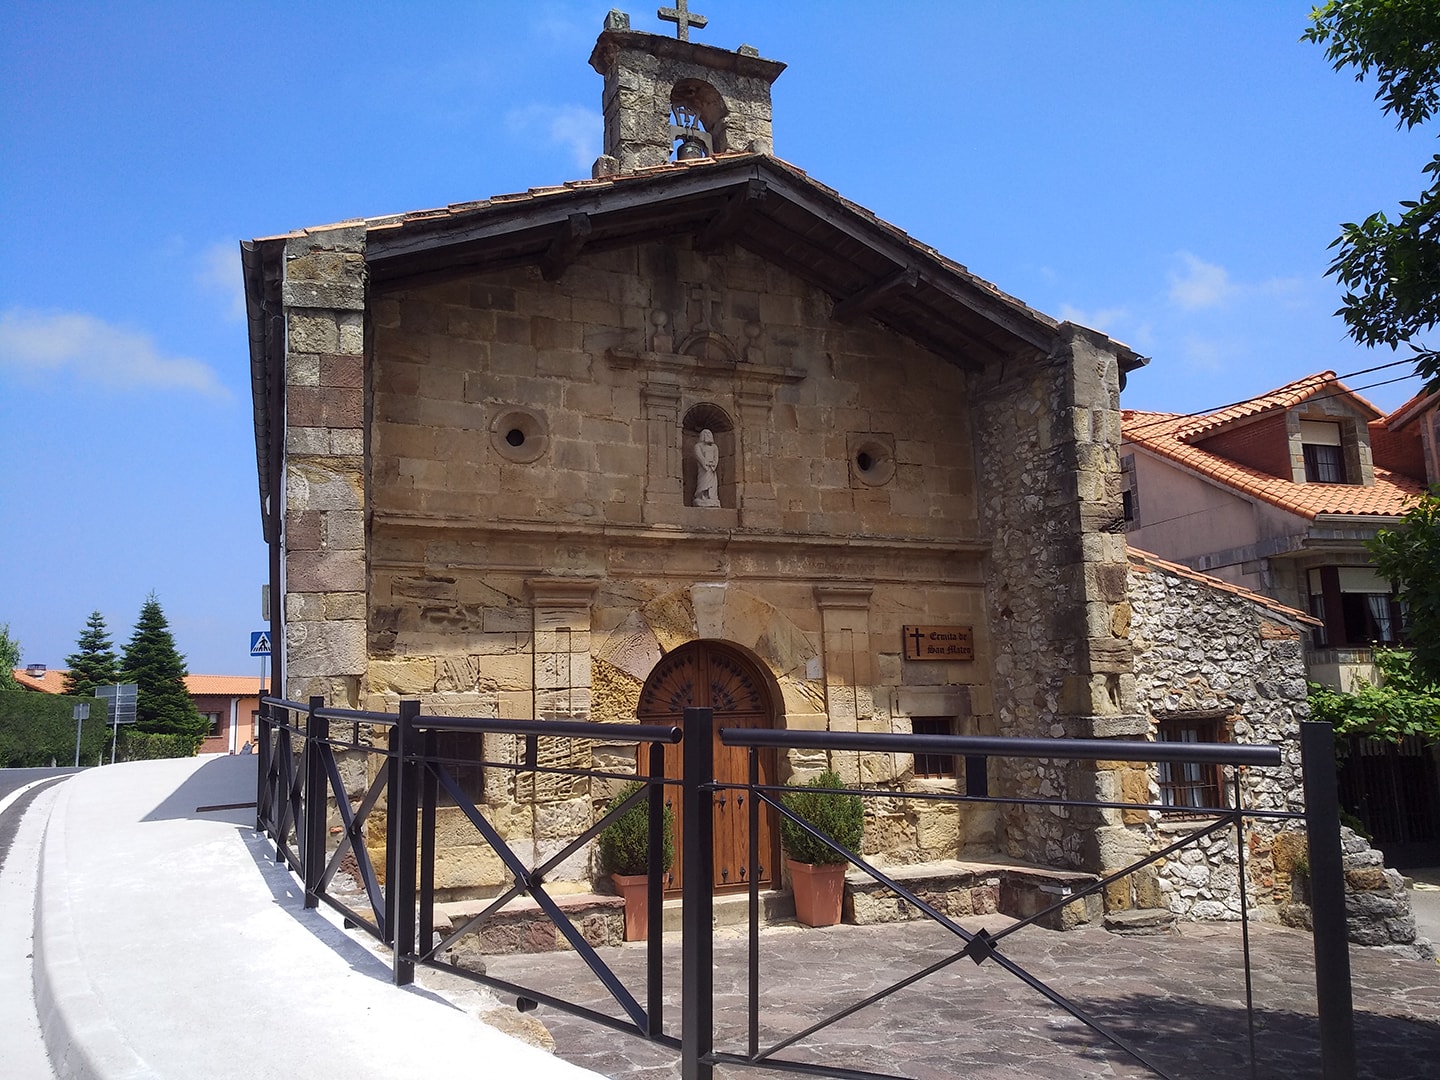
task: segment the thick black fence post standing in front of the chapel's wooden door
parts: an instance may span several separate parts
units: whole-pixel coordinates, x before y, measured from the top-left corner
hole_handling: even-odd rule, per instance
[[[711,1080],[714,1066],[714,713],[687,708],[681,743],[680,1076]]]

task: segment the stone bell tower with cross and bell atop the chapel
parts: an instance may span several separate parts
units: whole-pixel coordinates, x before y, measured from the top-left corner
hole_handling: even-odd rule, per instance
[[[687,0],[658,14],[675,23],[675,37],[631,30],[624,12],[605,16],[590,53],[590,66],[605,76],[605,153],[593,174],[723,153],[773,153],[770,84],[785,65],[760,59],[749,45],[727,52],[691,42],[690,27],[707,20],[688,12]]]

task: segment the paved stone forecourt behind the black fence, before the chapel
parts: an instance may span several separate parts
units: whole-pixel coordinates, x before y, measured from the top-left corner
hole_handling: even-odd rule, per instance
[[[994,919],[985,922],[998,932]],[[968,920],[968,929],[981,922]],[[1319,1077],[1315,960],[1309,935],[1251,924],[1256,1004],[1256,1077]],[[935,926],[779,926],[762,935],[760,1045],[897,981],[953,950]],[[1240,927],[1182,924],[1165,937],[1116,937],[1084,929],[1027,927],[1004,940],[1005,956],[1027,968],[1165,1073],[1185,1080],[1251,1077]],[[644,1001],[641,943],[602,950]],[[744,1051],[744,940],[721,932],[716,943],[716,1048]],[[678,1034],[680,942],[667,935],[667,1031]],[[619,1015],[573,953],[490,958],[491,975]],[[1440,965],[1351,949],[1359,1076],[1421,1080],[1440,1076]],[[556,1053],[624,1080],[680,1074],[677,1054],[641,1038],[541,1007],[537,1015]],[[1155,1076],[1080,1021],[1051,1005],[992,962],[945,968],[789,1047],[779,1057],[870,1068],[929,1080]],[[760,1077],[720,1067],[721,1077]]]

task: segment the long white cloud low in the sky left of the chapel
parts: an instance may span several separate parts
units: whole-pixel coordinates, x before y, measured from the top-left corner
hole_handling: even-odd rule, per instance
[[[22,373],[72,372],[125,389],[164,387],[229,397],[200,360],[161,356],[148,334],[76,311],[10,308],[0,312],[0,367]]]

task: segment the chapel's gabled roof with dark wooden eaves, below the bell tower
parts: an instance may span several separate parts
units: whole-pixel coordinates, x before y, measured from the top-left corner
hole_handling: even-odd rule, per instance
[[[769,154],[719,154],[271,236],[242,245],[262,505],[278,475],[269,412],[284,356],[274,317],[285,242],[356,228],[364,229],[373,288],[521,265],[559,276],[582,249],[690,233],[700,249],[736,243],[809,281],[835,298],[837,320],[874,318],[959,366],[1048,354],[1076,330]],[[1145,363],[1123,344],[1110,347],[1122,372]]]

